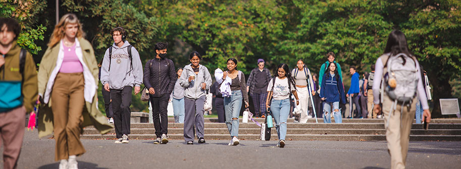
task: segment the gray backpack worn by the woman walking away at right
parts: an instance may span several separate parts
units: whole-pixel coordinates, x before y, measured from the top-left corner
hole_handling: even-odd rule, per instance
[[[390,56],[387,60],[387,73],[384,75],[385,92],[395,101],[411,103],[417,95],[418,68],[416,61],[404,53]],[[391,87],[389,81],[395,80],[396,86]]]

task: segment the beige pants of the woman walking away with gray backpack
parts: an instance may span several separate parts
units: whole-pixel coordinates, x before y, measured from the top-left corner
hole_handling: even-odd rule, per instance
[[[404,106],[403,112],[401,104],[390,115],[391,106],[394,103],[386,94],[383,100],[384,124],[386,126],[387,149],[391,156],[391,168],[405,168],[406,154],[408,153],[409,134],[412,129],[413,119],[415,118],[417,98],[413,99],[410,107]],[[390,117],[389,117],[390,115]],[[401,116],[401,120],[400,120]]]

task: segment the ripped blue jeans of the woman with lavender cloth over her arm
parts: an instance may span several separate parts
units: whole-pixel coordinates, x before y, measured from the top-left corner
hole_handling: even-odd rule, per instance
[[[226,125],[231,137],[238,137],[238,116],[240,115],[242,100],[243,96],[241,90],[232,90],[231,96],[224,97]]]

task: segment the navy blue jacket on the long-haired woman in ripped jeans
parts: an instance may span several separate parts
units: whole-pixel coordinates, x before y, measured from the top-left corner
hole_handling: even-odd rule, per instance
[[[335,75],[337,76],[337,75]],[[342,86],[341,77],[336,80],[335,77],[331,77],[330,73],[323,75],[323,81],[320,87],[320,98],[325,99],[326,102],[341,101],[343,104],[346,103],[346,96],[344,94],[344,88]]]

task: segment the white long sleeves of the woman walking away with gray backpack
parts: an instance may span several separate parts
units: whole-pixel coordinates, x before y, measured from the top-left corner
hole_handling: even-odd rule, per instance
[[[421,105],[423,105],[423,109],[429,109],[429,105],[427,104],[427,97],[426,93],[423,88],[423,80],[421,79],[421,68],[420,64],[416,62],[416,68],[418,69],[418,96],[420,97],[421,100]],[[381,61],[381,57],[376,60],[375,64],[375,81],[373,81],[373,102],[375,104],[379,104],[380,98],[379,92],[380,92],[380,86],[381,86],[381,80],[383,78],[383,72],[384,72],[384,65],[383,62]]]

